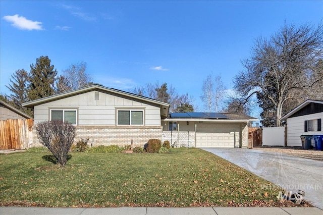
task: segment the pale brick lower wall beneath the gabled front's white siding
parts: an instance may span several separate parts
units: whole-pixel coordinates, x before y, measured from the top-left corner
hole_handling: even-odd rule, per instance
[[[161,126],[76,126],[76,143],[81,138],[89,138],[88,145],[119,145],[125,146],[131,144],[143,147],[149,139],[161,140]],[[42,146],[38,140],[36,129],[33,129],[32,146]]]

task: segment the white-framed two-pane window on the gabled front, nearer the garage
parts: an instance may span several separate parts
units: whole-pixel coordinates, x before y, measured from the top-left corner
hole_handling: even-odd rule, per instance
[[[143,125],[143,111],[118,110],[118,125]]]

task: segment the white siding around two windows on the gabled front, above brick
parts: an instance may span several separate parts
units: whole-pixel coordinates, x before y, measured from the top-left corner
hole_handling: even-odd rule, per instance
[[[50,101],[34,107],[35,124],[49,120],[50,109],[76,109],[77,125],[116,125],[117,109],[140,109],[145,113],[145,126],[160,126],[160,107],[139,99],[99,91],[94,100],[93,91]]]

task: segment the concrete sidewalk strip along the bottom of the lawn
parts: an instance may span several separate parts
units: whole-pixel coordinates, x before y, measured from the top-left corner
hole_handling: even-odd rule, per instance
[[[10,214],[132,214],[132,215],[181,215],[181,214],[310,214],[322,215],[317,207],[109,207],[109,208],[72,208],[72,207],[0,207],[1,215]]]

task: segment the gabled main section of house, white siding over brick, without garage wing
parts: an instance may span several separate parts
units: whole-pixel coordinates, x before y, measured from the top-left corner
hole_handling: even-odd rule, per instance
[[[162,138],[161,120],[169,104],[129,92],[92,85],[29,101],[34,124],[47,120],[69,121],[77,128],[75,142],[89,138],[88,145],[143,146],[149,139]],[[33,129],[33,145],[40,146]]]

